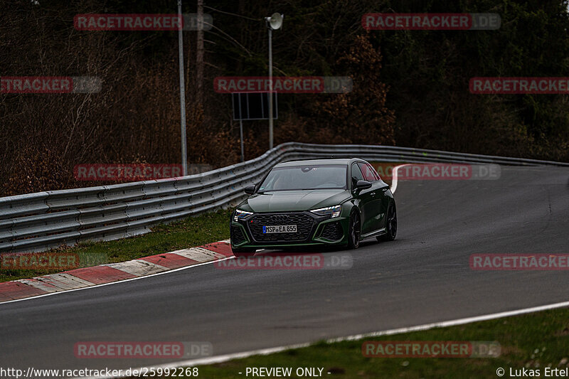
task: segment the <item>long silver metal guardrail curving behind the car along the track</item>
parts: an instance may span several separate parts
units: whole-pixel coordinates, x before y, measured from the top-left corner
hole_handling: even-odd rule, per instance
[[[117,240],[151,226],[235,205],[243,188],[292,159],[358,157],[368,161],[454,162],[516,166],[569,164],[396,146],[289,142],[256,159],[203,174],[0,198],[0,252],[36,252],[87,240]]]

